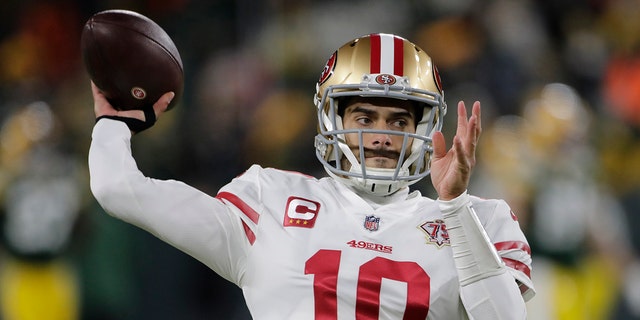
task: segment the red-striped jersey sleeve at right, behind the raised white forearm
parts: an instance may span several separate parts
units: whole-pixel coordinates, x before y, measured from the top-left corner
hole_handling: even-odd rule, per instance
[[[487,215],[483,220],[484,228],[498,255],[507,266],[511,275],[520,286],[525,301],[535,296],[535,288],[531,280],[531,248],[520,228],[517,216],[504,200],[486,200],[474,203],[474,207]]]

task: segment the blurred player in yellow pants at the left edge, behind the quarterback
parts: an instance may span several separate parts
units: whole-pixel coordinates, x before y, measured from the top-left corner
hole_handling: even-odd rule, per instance
[[[59,139],[43,101],[0,127],[0,319],[80,319],[70,251],[90,199],[86,169]]]

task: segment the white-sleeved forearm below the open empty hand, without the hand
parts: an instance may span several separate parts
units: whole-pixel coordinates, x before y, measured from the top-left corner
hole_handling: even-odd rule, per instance
[[[471,319],[525,319],[524,300],[506,272],[471,206],[467,193],[440,201],[460,279],[460,296]]]

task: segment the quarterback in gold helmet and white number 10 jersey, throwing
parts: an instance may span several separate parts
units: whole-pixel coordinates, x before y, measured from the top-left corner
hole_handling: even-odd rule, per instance
[[[364,36],[327,61],[314,101],[329,177],[253,165],[216,196],[145,177],[127,123],[155,119],[116,111],[92,90],[97,200],[242,288],[253,318],[526,318],[535,291],[516,215],[467,193],[480,103],[470,116],[458,103],[447,150],[437,69],[408,40]],[[156,116],[172,98],[154,105]],[[410,190],[428,175],[438,199]]]

